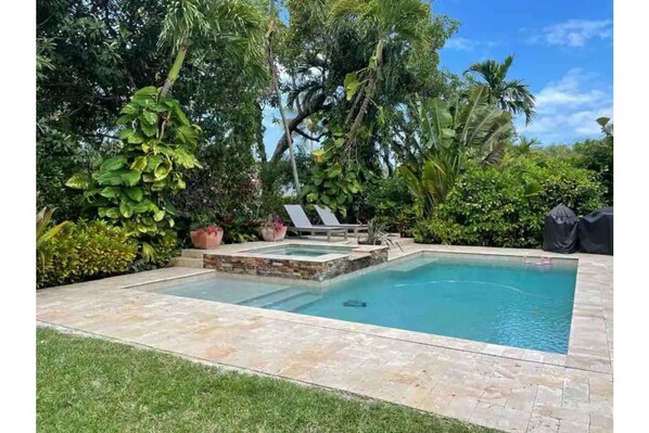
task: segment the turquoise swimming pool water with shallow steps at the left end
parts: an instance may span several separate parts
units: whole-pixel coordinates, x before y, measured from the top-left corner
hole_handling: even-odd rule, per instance
[[[565,354],[576,265],[417,257],[326,289],[214,279],[162,293]]]

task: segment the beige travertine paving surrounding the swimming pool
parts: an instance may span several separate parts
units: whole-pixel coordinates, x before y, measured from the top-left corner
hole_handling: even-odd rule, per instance
[[[535,250],[404,250],[391,258],[419,251],[567,257]],[[507,432],[610,432],[613,258],[568,257],[578,258],[568,355],[147,291],[214,275],[181,267],[38,291],[37,321]]]

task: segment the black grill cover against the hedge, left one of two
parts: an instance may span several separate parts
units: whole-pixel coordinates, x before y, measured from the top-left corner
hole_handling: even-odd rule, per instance
[[[560,204],[545,217],[544,251],[570,254],[577,249],[577,216]]]

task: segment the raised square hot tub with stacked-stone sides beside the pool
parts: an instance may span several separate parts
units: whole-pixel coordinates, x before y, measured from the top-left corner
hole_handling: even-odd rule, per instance
[[[323,281],[387,260],[387,246],[304,243],[203,254],[203,267],[220,272]]]

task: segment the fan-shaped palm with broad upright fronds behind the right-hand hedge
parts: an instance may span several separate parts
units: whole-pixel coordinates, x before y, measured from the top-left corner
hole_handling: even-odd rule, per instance
[[[488,102],[485,86],[476,86],[468,101],[417,98],[408,116],[415,128],[397,152],[404,161],[398,173],[422,200],[425,217],[446,201],[468,160],[498,163],[513,131],[511,115]]]

